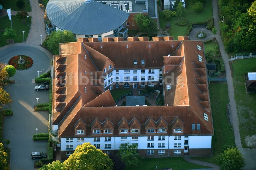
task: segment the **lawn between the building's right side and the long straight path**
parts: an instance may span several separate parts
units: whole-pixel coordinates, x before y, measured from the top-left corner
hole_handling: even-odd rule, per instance
[[[217,164],[221,147],[235,144],[234,131],[226,116],[228,100],[227,82],[209,84],[214,136],[212,137],[213,157],[192,157],[192,159]]]

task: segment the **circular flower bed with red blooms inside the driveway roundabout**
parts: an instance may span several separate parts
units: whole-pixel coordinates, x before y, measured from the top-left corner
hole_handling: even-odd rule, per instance
[[[21,62],[20,62],[21,56]],[[9,65],[15,67],[16,70],[26,70],[33,65],[33,60],[29,56],[26,55],[17,55],[9,59]]]

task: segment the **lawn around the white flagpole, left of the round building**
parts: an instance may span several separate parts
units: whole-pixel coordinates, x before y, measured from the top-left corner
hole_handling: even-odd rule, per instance
[[[12,16],[12,25],[13,25],[13,29],[15,30],[16,33],[16,37],[14,38],[14,42],[15,43],[20,43],[23,42],[23,32],[24,32],[24,39],[26,41],[27,37],[28,37],[28,32],[29,32],[29,28],[30,25],[28,26],[28,23],[31,23],[31,17],[27,17],[24,18],[25,23],[22,23],[19,18],[17,18],[16,16]],[[5,29],[5,28],[11,28],[11,23],[9,20],[8,16],[5,16],[3,18],[0,18],[0,29]],[[8,43],[6,43],[6,38],[4,37],[4,31],[0,31],[0,47],[7,45]],[[39,37],[40,38],[40,37]]]

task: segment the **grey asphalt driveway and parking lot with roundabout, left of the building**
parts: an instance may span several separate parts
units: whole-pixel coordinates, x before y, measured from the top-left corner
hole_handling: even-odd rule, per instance
[[[14,44],[13,44],[14,45]],[[17,70],[10,78],[15,84],[8,84],[5,90],[13,99],[11,108],[13,116],[5,117],[3,139],[10,139],[10,169],[34,169],[31,152],[42,151],[47,153],[47,141],[32,141],[32,135],[37,132],[48,132],[49,112],[34,112],[34,105],[49,102],[49,91],[35,91],[38,83],[31,83],[35,76],[49,69],[50,55],[41,51],[41,47],[27,46],[29,44],[5,47],[0,49],[0,61],[8,64],[8,60],[15,55],[30,56],[34,64],[27,70]],[[40,84],[40,83],[39,83]]]

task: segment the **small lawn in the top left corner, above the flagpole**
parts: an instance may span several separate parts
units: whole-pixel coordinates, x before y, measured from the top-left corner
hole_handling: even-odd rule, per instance
[[[23,0],[23,1],[25,3],[25,6],[22,9],[17,7],[16,5],[17,0],[5,0],[5,1],[2,1],[1,5],[3,6],[4,9],[11,8],[12,11],[31,11],[29,1],[26,1],[26,0]]]

